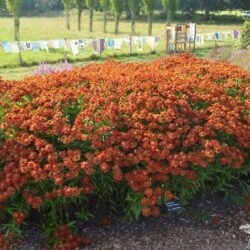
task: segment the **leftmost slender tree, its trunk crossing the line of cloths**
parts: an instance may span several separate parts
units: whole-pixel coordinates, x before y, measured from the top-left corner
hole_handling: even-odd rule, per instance
[[[14,39],[18,43],[20,42],[20,13],[22,8],[22,0],[6,0],[6,7],[9,13],[14,17]],[[19,64],[22,65],[21,51],[18,53]]]

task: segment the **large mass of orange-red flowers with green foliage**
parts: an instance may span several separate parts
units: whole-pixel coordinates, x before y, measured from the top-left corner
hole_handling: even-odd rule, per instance
[[[92,214],[158,216],[167,200],[225,191],[249,174],[249,83],[190,55],[1,81],[3,233],[33,215],[72,249],[90,244],[70,228]]]

